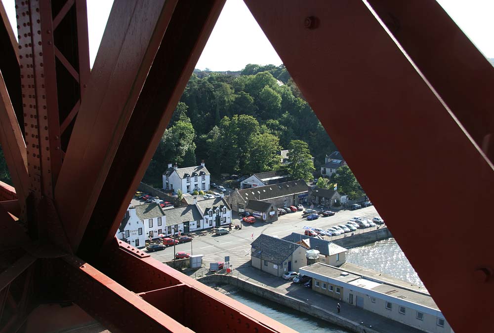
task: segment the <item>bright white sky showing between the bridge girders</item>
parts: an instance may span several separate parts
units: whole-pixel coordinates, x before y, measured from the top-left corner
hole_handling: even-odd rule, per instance
[[[438,0],[456,24],[488,58],[494,58],[494,0]],[[13,0],[3,1],[15,24]],[[91,67],[113,0],[87,0]],[[282,61],[242,0],[227,0],[196,68],[238,71],[247,64],[280,65]]]

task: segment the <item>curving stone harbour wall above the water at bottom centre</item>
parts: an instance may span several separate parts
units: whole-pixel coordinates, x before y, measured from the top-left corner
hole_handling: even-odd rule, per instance
[[[369,327],[362,326],[359,323],[356,323],[354,321],[346,319],[345,317],[327,311],[317,305],[309,304],[300,299],[278,293],[264,286],[260,286],[255,283],[245,281],[240,278],[233,277],[231,275],[220,275],[220,274],[208,275],[206,277],[198,279],[198,281],[201,281],[206,285],[229,284],[237,288],[240,288],[246,292],[249,292],[251,294],[261,296],[278,304],[306,313],[313,317],[325,320],[331,324],[338,325],[340,327],[343,327],[345,329],[348,329],[356,333],[379,333],[378,331],[372,330]]]

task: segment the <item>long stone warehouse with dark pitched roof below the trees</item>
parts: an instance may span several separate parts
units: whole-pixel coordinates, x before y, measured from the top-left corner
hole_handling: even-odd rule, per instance
[[[236,189],[230,194],[232,210],[244,212],[248,200],[266,201],[275,208],[298,205],[307,198],[309,188],[304,180],[266,185],[258,188]]]

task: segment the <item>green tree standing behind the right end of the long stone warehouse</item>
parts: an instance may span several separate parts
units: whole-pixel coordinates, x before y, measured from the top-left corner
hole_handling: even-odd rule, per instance
[[[288,145],[288,164],[286,171],[293,179],[303,179],[306,182],[312,179],[314,163],[309,146],[300,140],[292,140]]]

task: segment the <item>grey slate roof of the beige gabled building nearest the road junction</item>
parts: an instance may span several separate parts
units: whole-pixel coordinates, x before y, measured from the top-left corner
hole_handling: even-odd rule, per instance
[[[276,265],[280,265],[287,259],[300,245],[286,240],[260,234],[251,244],[251,256],[267,260]]]

